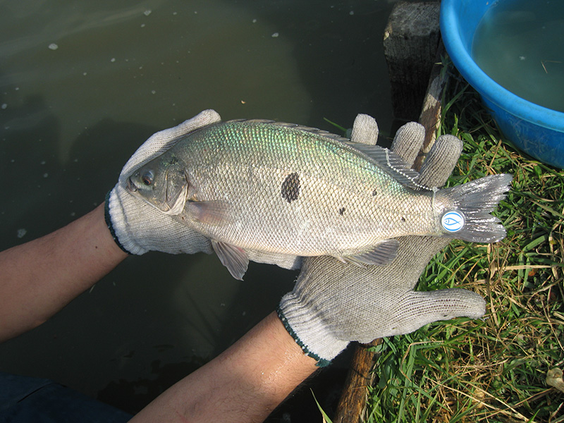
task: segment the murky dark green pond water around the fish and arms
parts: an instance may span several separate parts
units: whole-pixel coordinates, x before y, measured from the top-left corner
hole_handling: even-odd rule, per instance
[[[348,128],[367,113],[386,133],[392,3],[0,1],[0,249],[89,212],[149,135],[202,109],[333,132],[324,118]],[[130,257],[0,345],[0,370],[135,411],[271,312],[295,276],[251,264],[240,282],[215,255]]]

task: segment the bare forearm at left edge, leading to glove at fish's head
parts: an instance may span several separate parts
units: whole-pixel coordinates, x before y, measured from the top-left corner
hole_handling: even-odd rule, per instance
[[[49,319],[127,255],[104,205],[64,228],[0,252],[0,342]]]

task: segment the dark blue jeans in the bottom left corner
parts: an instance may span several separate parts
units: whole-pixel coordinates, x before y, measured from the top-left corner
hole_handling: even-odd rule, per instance
[[[132,417],[49,379],[0,372],[0,423],[123,423]]]

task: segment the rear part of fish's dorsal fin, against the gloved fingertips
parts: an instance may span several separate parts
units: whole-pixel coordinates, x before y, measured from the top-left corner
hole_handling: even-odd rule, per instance
[[[416,190],[433,190],[433,188],[417,182],[419,173],[414,171],[398,154],[378,145],[347,142],[347,145],[367,155],[379,165],[381,169],[393,176],[399,183]]]

